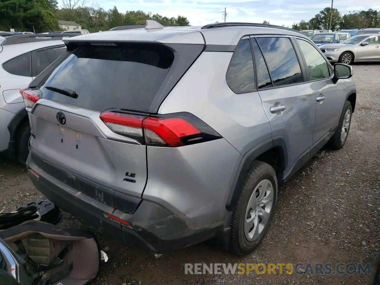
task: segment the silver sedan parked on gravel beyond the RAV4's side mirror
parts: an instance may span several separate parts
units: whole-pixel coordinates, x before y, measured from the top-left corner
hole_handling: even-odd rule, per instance
[[[325,44],[321,51],[330,62],[380,61],[380,35],[357,35],[339,44]]]

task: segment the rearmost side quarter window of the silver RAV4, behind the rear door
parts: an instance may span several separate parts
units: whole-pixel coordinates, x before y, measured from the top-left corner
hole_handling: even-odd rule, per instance
[[[227,70],[226,81],[235,93],[256,89],[252,51],[248,39],[237,44]]]

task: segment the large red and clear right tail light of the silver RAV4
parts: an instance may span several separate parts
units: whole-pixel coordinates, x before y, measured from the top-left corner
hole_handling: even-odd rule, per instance
[[[188,113],[146,117],[105,112],[100,119],[115,133],[150,146],[178,147],[221,138],[206,123]]]

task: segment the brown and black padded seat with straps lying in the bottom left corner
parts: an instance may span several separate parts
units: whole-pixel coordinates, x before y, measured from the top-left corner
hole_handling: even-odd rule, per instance
[[[100,249],[89,231],[28,221],[0,237],[19,255],[32,285],[84,285],[98,273]]]

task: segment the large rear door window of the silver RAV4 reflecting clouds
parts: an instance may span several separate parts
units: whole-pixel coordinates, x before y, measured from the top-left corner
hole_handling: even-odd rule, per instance
[[[289,38],[257,38],[271,71],[274,86],[303,81],[301,67]]]

